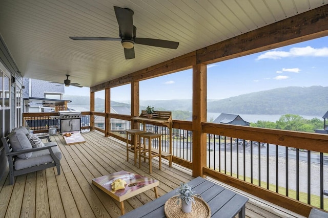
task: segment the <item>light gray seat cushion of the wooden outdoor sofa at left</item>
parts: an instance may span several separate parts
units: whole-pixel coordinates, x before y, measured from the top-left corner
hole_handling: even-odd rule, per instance
[[[45,146],[50,145],[50,144],[56,144],[56,142],[45,143]],[[60,160],[61,152],[60,152],[58,146],[52,147],[52,150],[53,150],[55,156]],[[51,163],[51,162],[53,162],[53,159],[50,155],[49,150],[48,149],[39,150],[39,151],[34,151],[32,153],[32,156],[27,160],[16,158],[15,169],[16,170],[25,169],[25,168],[29,168],[32,166],[37,166],[40,164]]]

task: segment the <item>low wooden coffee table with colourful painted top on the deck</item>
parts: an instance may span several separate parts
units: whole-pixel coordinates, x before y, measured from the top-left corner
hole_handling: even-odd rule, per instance
[[[120,189],[117,191],[112,190],[112,183],[117,179],[122,179],[127,182],[125,189]],[[156,199],[158,198],[157,186],[159,185],[159,182],[157,180],[124,170],[95,178],[92,180],[92,183],[120,203],[122,215],[125,213],[124,200],[127,200],[151,188],[154,188],[155,197]]]

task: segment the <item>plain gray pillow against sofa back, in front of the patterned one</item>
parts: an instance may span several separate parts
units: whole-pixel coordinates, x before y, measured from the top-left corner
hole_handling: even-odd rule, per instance
[[[30,140],[22,131],[16,131],[8,135],[10,145],[14,151],[25,150],[33,148]],[[26,154],[17,155],[20,159],[29,159],[32,156],[32,152]]]

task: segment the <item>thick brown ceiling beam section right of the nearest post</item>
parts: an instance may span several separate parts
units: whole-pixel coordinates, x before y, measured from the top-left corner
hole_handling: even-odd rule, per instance
[[[328,35],[328,5],[196,51],[197,63],[215,63]]]

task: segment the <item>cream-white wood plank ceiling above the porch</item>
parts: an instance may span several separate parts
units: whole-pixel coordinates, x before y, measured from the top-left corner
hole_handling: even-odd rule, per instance
[[[0,33],[24,77],[83,86],[118,78],[327,4],[327,0],[1,0]],[[134,11],[137,37],[180,42],[135,45],[126,60],[113,6]]]

